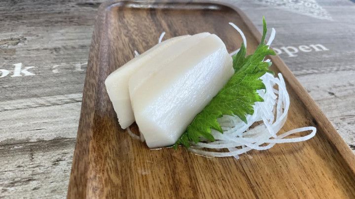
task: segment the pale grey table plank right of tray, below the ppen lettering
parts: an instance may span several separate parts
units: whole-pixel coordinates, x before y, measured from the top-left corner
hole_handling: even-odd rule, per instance
[[[309,74],[299,77],[308,92],[315,96],[322,111],[338,133],[354,150],[355,146],[355,80],[354,71]]]

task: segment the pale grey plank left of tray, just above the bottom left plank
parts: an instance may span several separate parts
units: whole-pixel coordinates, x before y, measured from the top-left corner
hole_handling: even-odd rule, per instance
[[[81,103],[76,102],[1,112],[0,142],[75,138],[80,106]]]

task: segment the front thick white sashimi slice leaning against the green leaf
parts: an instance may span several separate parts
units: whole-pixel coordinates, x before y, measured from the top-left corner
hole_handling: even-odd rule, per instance
[[[133,93],[131,79],[137,77],[132,75],[132,106],[146,144],[174,144],[233,74],[224,43],[211,34],[164,64]]]

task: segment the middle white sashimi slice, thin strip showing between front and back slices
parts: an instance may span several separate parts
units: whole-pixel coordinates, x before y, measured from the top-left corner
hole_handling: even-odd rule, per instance
[[[198,44],[203,38],[209,35],[211,35],[209,32],[202,32],[181,39],[176,44],[166,48],[164,50],[164,54],[158,55],[154,60],[152,59],[151,61],[143,64],[134,76],[129,79],[130,95],[134,94],[140,85],[144,84],[146,80],[157,73],[162,67],[165,67],[167,63],[178,57],[178,55],[184,51]]]

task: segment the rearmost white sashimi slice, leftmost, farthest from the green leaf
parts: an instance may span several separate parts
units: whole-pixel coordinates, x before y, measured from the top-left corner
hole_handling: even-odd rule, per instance
[[[112,102],[113,109],[117,114],[121,128],[125,129],[135,121],[128,90],[129,78],[142,67],[144,63],[151,61],[155,56],[161,55],[166,48],[189,36],[190,35],[174,37],[155,45],[142,55],[135,57],[117,70],[113,71],[106,78],[106,90]]]

